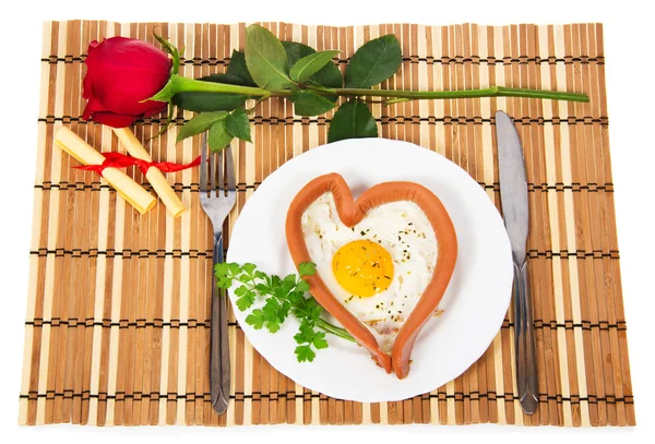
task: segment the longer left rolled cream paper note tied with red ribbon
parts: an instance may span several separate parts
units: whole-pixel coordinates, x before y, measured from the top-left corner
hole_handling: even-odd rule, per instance
[[[102,165],[105,161],[105,156],[66,127],[57,131],[55,143],[84,165]],[[157,203],[155,196],[119,169],[105,168],[103,177],[141,214],[147,213]]]

